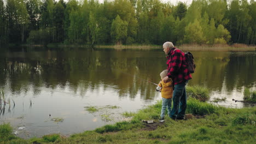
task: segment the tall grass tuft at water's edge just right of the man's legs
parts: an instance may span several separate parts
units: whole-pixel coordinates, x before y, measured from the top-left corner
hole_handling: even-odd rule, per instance
[[[202,86],[193,86],[190,87],[188,86],[186,88],[186,92],[188,97],[192,97],[195,99],[198,99],[200,101],[207,101],[210,99],[210,92],[208,90],[208,88],[206,87],[202,87]]]

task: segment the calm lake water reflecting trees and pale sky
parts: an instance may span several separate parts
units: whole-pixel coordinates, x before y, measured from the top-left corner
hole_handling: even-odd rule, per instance
[[[245,88],[256,89],[256,52],[192,52],[197,68],[189,86],[208,87],[211,99],[226,97],[219,105],[243,107],[232,99],[242,100]],[[161,99],[148,81],[158,83],[164,69],[161,49],[1,52],[0,88],[10,105],[2,105],[0,124],[9,122],[18,136],[28,139],[71,135],[121,121],[121,113],[136,112]],[[100,111],[90,113],[86,106]]]

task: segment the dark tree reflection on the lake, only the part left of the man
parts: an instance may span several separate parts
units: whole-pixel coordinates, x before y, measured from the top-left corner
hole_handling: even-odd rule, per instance
[[[164,69],[162,62],[158,57],[148,57],[139,52],[137,56],[133,54],[120,51],[48,51],[35,52],[37,57],[34,57],[34,53],[8,53],[13,56],[1,59],[0,85],[9,85],[10,91],[15,93],[26,92],[32,87],[34,95],[40,94],[40,87],[64,88],[67,83],[75,93],[78,88],[84,93],[86,89],[94,91],[99,87],[115,86],[119,97],[128,94],[134,98],[141,89],[143,99],[153,99],[156,92],[149,87],[152,84],[135,76],[150,80],[158,78],[158,72]]]

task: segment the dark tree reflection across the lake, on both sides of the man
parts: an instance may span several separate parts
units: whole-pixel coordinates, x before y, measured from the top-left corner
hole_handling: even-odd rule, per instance
[[[256,80],[255,52],[194,52],[196,73],[190,85],[204,85],[215,91],[254,87]],[[141,90],[143,99],[155,95],[151,83],[137,79],[159,81],[159,71],[165,69],[162,52],[72,51],[72,52],[9,52],[1,57],[0,85],[20,93],[40,87],[69,88],[77,93],[109,86],[119,91],[119,97],[134,98]],[[83,94],[82,94],[83,95]]]

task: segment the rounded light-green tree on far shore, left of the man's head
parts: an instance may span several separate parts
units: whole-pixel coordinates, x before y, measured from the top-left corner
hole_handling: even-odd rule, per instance
[[[120,19],[117,15],[112,21],[111,25],[111,38],[114,43],[122,44],[127,37],[127,26],[128,23]]]

